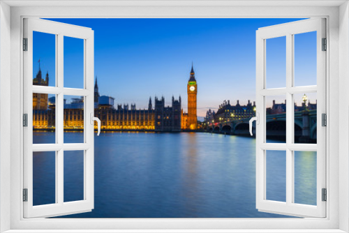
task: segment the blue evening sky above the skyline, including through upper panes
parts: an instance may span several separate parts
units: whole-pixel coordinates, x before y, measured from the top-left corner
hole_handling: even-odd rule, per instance
[[[149,96],[181,96],[194,64],[198,116],[223,100],[255,100],[255,31],[299,19],[50,19],[90,27],[95,35],[95,75],[101,95],[147,108]],[[301,38],[302,37],[302,38]],[[295,84],[315,84],[315,33],[295,36]],[[314,52],[315,51],[315,52]],[[40,59],[54,85],[54,36],[34,34]],[[34,62],[34,75],[38,63]],[[64,38],[64,86],[82,88],[83,43]],[[269,77],[269,78],[268,78]],[[267,87],[284,87],[285,40],[267,41]]]

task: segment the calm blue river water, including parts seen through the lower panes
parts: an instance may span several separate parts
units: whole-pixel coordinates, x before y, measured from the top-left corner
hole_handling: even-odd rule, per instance
[[[34,143],[54,133],[34,132]],[[65,133],[79,142],[82,133]],[[64,201],[83,199],[83,153],[64,151]],[[54,152],[34,153],[34,205],[54,203]],[[95,206],[68,218],[285,218],[255,209],[255,139],[211,133],[101,133]],[[52,182],[53,181],[53,182]],[[316,153],[295,153],[295,202],[316,204]],[[267,199],[285,200],[285,152],[267,151]]]

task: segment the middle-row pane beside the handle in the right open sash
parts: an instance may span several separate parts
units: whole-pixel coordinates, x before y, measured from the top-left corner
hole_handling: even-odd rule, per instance
[[[286,96],[266,96],[266,142],[286,141]]]

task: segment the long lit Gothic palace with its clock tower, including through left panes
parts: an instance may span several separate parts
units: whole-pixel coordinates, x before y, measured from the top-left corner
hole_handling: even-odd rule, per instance
[[[48,86],[49,75],[45,79],[39,70],[33,80],[34,85]],[[165,98],[155,97],[154,105],[149,98],[147,109],[136,109],[135,104],[117,105],[114,98],[100,96],[98,82],[94,85],[94,115],[101,119],[102,130],[144,130],[158,132],[179,132],[181,130],[196,130],[197,93],[198,84],[195,72],[191,67],[190,78],[187,83],[188,113],[181,108],[181,96],[174,99],[172,106],[165,106]],[[48,97],[45,93],[33,93],[33,130],[54,130],[55,128],[55,97]],[[64,130],[83,130],[84,128],[84,98],[64,100]],[[95,128],[97,126],[95,125]]]

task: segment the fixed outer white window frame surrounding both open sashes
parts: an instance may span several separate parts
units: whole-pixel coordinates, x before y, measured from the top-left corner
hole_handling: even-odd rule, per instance
[[[91,4],[96,6],[71,6]],[[349,231],[349,13],[347,1],[5,1],[0,6],[0,218],[1,232],[348,232]],[[9,7],[8,4],[17,4]],[[21,5],[22,4],[22,5]],[[24,6],[23,6],[24,4]],[[31,5],[36,4],[36,5]],[[39,5],[38,5],[39,4]],[[31,7],[47,5],[43,7]],[[50,6],[55,4],[55,7]],[[57,6],[61,4],[61,6]],[[67,6],[70,4],[70,6]],[[129,6],[123,6],[129,4]],[[142,4],[142,6],[140,5]],[[119,5],[119,6],[117,6]],[[156,6],[158,5],[158,6]],[[24,219],[22,209],[23,17],[326,17],[327,218]],[[10,59],[8,59],[10,58]],[[20,94],[18,94],[20,93]],[[7,96],[6,96],[7,95]],[[8,98],[10,96],[10,98]],[[4,101],[10,99],[10,103]],[[341,107],[343,106],[343,107]],[[8,114],[10,112],[10,114]],[[10,115],[10,116],[8,116]],[[341,127],[339,127],[341,121]],[[8,123],[10,122],[10,123]],[[8,138],[10,132],[10,138]],[[341,137],[339,137],[341,135]],[[10,177],[10,179],[8,179]],[[10,200],[10,201],[9,201]],[[10,214],[8,214],[10,213]],[[208,231],[209,230],[209,231]],[[248,231],[249,230],[249,231]],[[129,232],[129,231],[128,231]]]

